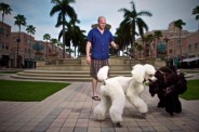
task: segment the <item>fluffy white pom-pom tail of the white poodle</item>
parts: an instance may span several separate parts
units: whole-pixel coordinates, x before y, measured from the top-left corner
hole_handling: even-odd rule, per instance
[[[97,72],[97,79],[100,81],[105,81],[108,78],[108,66],[103,66]]]

